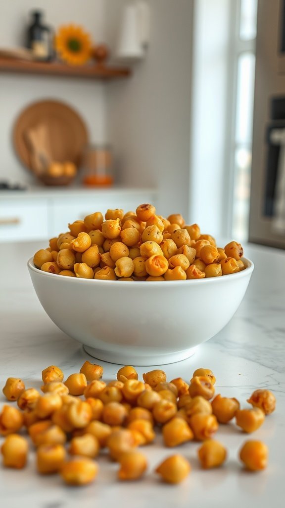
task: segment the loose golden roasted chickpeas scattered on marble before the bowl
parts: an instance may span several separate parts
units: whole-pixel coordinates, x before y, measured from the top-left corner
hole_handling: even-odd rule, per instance
[[[118,463],[119,480],[138,480],[148,468],[140,448],[161,432],[168,448],[201,441],[201,468],[210,469],[227,458],[226,448],[213,439],[219,424],[235,418],[237,427],[252,433],[275,409],[269,390],[254,391],[247,399],[252,407],[246,409],[240,409],[235,398],[214,397],[215,376],[204,368],[195,370],[189,383],[182,377],[167,382],[159,369],[138,380],[130,365],[120,368],[112,382],[105,383],[102,376],[100,365],[86,361],[79,373],[63,381],[61,369],[51,365],[42,372],[42,394],[26,389],[22,379],[9,377],[3,393],[18,407],[6,404],[0,414],[3,465],[23,468],[32,443],[38,473],[59,473],[67,484],[85,485],[95,479],[98,462],[94,459],[106,449],[110,460]],[[241,462],[251,471],[264,469],[267,456],[266,444],[258,440],[245,441],[239,451]],[[155,469],[170,484],[182,482],[190,471],[188,458],[178,453]]]

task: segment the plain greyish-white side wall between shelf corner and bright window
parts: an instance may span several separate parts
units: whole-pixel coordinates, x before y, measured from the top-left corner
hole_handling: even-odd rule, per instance
[[[105,0],[115,48],[123,0]],[[192,0],[151,0],[151,41],[126,81],[106,88],[106,129],[120,180],[160,190],[159,213],[188,215]]]

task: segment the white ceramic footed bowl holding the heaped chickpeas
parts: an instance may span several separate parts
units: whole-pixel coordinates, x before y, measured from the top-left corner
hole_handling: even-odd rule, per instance
[[[254,270],[182,281],[113,281],[64,277],[28,269],[51,320],[107,362],[161,365],[191,356],[237,310]]]

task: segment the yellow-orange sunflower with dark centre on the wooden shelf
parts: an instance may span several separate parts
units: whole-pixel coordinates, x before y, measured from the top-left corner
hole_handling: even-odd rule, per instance
[[[91,56],[91,38],[81,26],[65,25],[55,36],[55,49],[69,65],[83,65]]]

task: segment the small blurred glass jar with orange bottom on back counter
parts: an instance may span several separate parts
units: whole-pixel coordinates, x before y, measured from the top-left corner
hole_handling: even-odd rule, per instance
[[[88,145],[83,155],[82,166],[84,185],[113,185],[113,156],[110,145]]]

